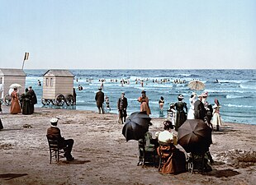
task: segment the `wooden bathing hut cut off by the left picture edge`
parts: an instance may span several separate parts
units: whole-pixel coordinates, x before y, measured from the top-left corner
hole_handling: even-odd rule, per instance
[[[21,85],[20,93],[24,92],[26,83],[26,73],[22,69],[0,68],[0,99],[9,105],[11,97],[9,95],[10,86],[12,84]]]

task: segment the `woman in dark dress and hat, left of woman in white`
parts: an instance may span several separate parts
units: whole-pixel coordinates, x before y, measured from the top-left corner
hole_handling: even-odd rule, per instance
[[[183,101],[183,99],[183,95],[178,95],[178,102],[174,104],[176,109],[176,131],[178,131],[178,127],[181,127],[183,123],[187,120],[187,104]]]

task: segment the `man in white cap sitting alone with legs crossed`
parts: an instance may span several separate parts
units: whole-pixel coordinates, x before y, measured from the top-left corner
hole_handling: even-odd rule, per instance
[[[71,150],[73,147],[73,139],[65,140],[64,137],[60,135],[59,127],[57,127],[58,118],[50,119],[51,127],[47,129],[47,136],[55,138],[59,141],[60,147],[64,149],[64,156],[68,161],[74,160],[71,155]]]

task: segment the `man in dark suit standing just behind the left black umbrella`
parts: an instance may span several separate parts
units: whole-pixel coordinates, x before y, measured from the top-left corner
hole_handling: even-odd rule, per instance
[[[118,99],[117,101],[117,109],[118,109],[118,112],[119,112],[119,119],[118,119],[118,123],[126,123],[126,116],[127,116],[127,113],[126,113],[126,109],[127,109],[127,106],[128,106],[128,102],[127,102],[127,99],[125,97],[125,93],[121,93],[121,98]]]

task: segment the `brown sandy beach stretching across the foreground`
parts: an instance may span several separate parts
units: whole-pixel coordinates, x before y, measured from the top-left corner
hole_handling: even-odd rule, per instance
[[[0,184],[255,184],[256,126],[224,123],[213,132],[209,173],[162,175],[157,168],[137,166],[137,141],[121,134],[117,115],[67,109],[36,109],[32,115],[11,115],[2,106]],[[50,164],[46,129],[60,118],[62,136],[73,138],[75,160]],[[153,118],[149,132],[162,130]],[[23,127],[29,124],[31,128]]]

